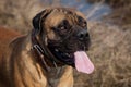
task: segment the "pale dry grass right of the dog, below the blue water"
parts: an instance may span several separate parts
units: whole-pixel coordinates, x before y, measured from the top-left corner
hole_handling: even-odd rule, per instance
[[[87,52],[95,64],[91,75],[76,73],[74,87],[131,86],[131,30],[104,23],[88,23],[92,47]]]

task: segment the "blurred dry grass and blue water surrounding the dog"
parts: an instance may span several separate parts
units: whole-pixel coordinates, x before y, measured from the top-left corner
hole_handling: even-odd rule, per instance
[[[88,21],[95,71],[74,70],[74,87],[131,87],[131,0],[0,0],[0,26],[27,34],[32,18],[53,5],[74,8]]]

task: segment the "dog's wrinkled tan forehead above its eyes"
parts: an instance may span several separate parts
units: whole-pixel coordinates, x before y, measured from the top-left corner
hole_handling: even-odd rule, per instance
[[[63,20],[68,20],[70,24],[76,23],[78,17],[81,16],[85,20],[85,16],[79,11],[71,10],[52,10],[52,12],[46,18],[46,25],[57,26]]]

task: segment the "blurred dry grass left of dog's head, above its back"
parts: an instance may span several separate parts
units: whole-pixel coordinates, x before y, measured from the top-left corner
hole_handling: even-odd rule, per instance
[[[26,33],[33,28],[32,18],[43,8],[40,0],[0,0],[0,25]]]

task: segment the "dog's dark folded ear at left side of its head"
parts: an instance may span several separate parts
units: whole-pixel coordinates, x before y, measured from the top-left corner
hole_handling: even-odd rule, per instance
[[[51,10],[50,9],[45,9],[40,13],[36,14],[36,16],[33,18],[33,26],[35,29],[35,33],[39,33],[43,28],[41,22],[45,21],[45,18],[50,14]]]

